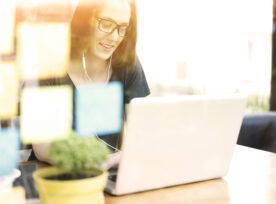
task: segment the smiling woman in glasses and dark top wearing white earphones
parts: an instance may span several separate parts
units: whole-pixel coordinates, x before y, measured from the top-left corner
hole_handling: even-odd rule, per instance
[[[93,4],[81,1],[71,31],[72,63],[66,83],[78,88],[87,83],[120,81],[125,104],[132,98],[150,94],[136,57],[137,16],[133,0],[103,0]],[[114,146],[116,136],[106,135],[101,139]],[[35,155],[42,161],[48,161],[46,146],[33,145]]]

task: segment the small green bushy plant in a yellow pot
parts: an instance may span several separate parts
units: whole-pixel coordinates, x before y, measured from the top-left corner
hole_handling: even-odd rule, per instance
[[[43,204],[104,203],[107,172],[100,166],[109,154],[104,143],[72,133],[68,139],[52,142],[48,153],[54,167],[33,174]]]

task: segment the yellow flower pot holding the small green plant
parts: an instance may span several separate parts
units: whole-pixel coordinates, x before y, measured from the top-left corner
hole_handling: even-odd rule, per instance
[[[107,172],[93,170],[97,175],[78,180],[48,180],[45,177],[63,174],[56,167],[37,170],[34,180],[43,204],[103,204],[103,190],[107,182]]]

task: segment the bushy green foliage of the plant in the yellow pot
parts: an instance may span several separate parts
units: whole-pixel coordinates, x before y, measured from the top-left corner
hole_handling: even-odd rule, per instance
[[[52,165],[63,169],[72,177],[100,167],[109,153],[108,147],[95,137],[81,138],[74,132],[65,140],[52,142],[48,148]]]

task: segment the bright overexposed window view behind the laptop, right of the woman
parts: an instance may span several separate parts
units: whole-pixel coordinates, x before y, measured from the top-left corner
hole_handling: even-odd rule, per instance
[[[137,1],[138,55],[152,95],[246,93],[269,110],[271,0]]]

